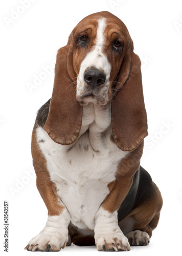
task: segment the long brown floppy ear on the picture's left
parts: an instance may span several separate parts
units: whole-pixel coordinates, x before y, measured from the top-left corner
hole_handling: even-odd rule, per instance
[[[57,143],[70,145],[77,139],[82,124],[82,106],[76,100],[76,74],[73,68],[73,44],[70,35],[58,50],[54,88],[49,115],[43,129]],[[73,80],[72,80],[73,79]]]

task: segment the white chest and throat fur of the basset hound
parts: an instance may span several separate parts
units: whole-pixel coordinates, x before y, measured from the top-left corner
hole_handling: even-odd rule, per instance
[[[85,108],[80,136],[69,146],[55,143],[42,127],[37,128],[37,141],[58,196],[73,224],[90,229],[94,229],[95,214],[109,194],[107,185],[115,180],[117,165],[127,155],[110,141],[109,118],[102,127],[103,117],[97,121],[92,114],[92,109]]]

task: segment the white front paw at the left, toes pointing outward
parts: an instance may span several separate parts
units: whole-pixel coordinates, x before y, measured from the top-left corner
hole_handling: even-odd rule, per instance
[[[25,247],[28,251],[60,251],[66,246],[68,236],[41,231]]]

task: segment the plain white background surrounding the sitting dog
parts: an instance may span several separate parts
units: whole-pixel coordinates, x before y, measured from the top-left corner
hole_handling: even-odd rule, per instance
[[[164,199],[160,223],[149,246],[132,247],[117,255],[181,255],[181,1],[31,2],[27,9],[19,0],[1,1],[0,6],[0,252],[4,252],[3,202],[8,200],[9,255],[47,254],[24,250],[47,220],[47,209],[35,185],[30,150],[36,112],[51,97],[53,89],[54,68],[46,77],[42,72],[55,61],[57,50],[66,44],[83,17],[107,10],[125,23],[134,51],[142,60],[149,136],[141,165],[151,174]],[[30,90],[28,85],[34,84],[35,77],[41,77],[39,85]],[[95,246],[66,247],[58,253],[105,255],[97,252]],[[116,252],[109,255],[112,253]]]

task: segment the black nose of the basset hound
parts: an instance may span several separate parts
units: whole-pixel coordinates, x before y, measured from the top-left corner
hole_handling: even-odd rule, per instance
[[[98,69],[89,69],[85,71],[83,78],[89,86],[97,87],[105,83],[106,76]]]

